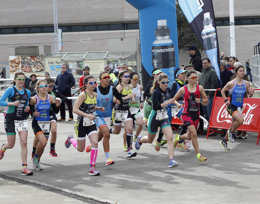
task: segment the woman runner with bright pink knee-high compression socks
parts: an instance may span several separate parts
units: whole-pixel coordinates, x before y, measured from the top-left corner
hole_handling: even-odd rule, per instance
[[[78,151],[84,151],[87,134],[92,145],[88,175],[97,176],[100,175],[100,172],[95,169],[98,152],[98,132],[96,130],[96,124],[93,121],[96,118],[94,111],[104,111],[105,108],[96,106],[97,93],[93,92],[96,87],[95,78],[91,75],[86,76],[84,78],[84,86],[86,90],[79,94],[73,107],[73,113],[78,115],[75,121],[77,140],[73,139],[73,134],[69,134],[68,139],[65,141],[65,147],[69,148],[72,144]]]

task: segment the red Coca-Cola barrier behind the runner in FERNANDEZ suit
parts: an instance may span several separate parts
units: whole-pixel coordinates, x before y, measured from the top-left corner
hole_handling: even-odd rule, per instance
[[[209,128],[207,132],[207,139],[209,134],[213,132],[221,132],[211,128],[229,129],[231,126],[231,115],[226,110],[226,103],[222,97],[215,97],[211,110],[211,117],[209,121]],[[227,98],[229,99],[229,98]],[[243,113],[244,123],[237,129],[248,132],[258,132],[257,145],[260,137],[260,99],[259,98],[244,98]],[[209,131],[212,131],[209,133]]]

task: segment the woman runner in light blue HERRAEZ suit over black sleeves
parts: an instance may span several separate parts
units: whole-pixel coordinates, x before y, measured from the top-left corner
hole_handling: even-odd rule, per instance
[[[97,106],[102,106],[105,108],[105,111],[95,111],[94,119],[96,126],[99,128],[99,139],[98,142],[103,138],[103,148],[106,156],[106,165],[114,164],[115,162],[110,159],[109,154],[109,139],[110,139],[110,119],[112,116],[112,103],[117,102],[120,104],[120,101],[123,102],[118,90],[115,87],[109,85],[110,76],[107,71],[102,71],[99,74],[99,86],[96,88],[96,101]],[[95,90],[94,90],[95,91]],[[115,98],[115,99],[114,99]],[[87,146],[86,152],[91,151],[91,143]]]

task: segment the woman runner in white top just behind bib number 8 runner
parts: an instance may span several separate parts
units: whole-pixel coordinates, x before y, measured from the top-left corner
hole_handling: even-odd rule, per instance
[[[140,109],[144,107],[143,101],[141,100],[141,93],[143,90],[143,86],[139,85],[138,81],[139,81],[138,73],[131,72],[129,82],[133,86],[132,93],[135,94],[135,102],[134,103],[132,103],[131,101],[129,102],[129,110],[132,115],[133,121],[135,120],[137,123],[136,133],[135,136],[133,137],[134,142],[136,142],[137,137],[139,136],[143,128],[143,116],[140,111]],[[127,138],[127,133],[126,131],[124,131],[123,134],[124,144],[126,144],[126,138]]]

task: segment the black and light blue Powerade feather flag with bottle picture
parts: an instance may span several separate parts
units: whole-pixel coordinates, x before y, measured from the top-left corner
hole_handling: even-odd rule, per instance
[[[212,1],[177,0],[177,2],[198,37],[198,40],[204,47],[220,80],[218,37]]]

